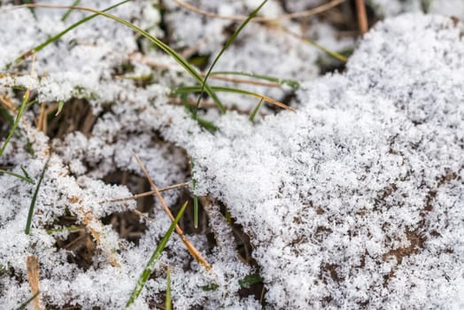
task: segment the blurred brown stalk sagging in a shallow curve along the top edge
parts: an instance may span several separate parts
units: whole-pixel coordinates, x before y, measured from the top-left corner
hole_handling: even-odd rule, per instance
[[[325,11],[335,7],[338,4],[344,3],[344,1],[346,1],[346,0],[333,0],[333,1],[329,2],[329,4],[322,4],[322,5],[320,5],[318,7],[315,7],[313,9],[311,9],[311,10],[307,10],[307,11],[303,11],[303,12],[295,12],[295,13],[290,13],[290,14],[284,14],[284,15],[276,16],[274,18],[255,17],[254,19],[251,19],[251,21],[254,21],[254,22],[272,22],[272,21],[277,21],[277,20],[299,19],[299,18],[303,18],[303,17],[309,17],[309,16],[319,14],[321,12],[325,12]],[[174,0],[174,2],[176,4],[179,4],[179,6],[181,6],[182,8],[184,8],[186,10],[189,10],[191,12],[195,12],[197,14],[204,15],[204,16],[207,16],[207,17],[211,17],[211,18],[214,18],[214,19],[227,19],[227,20],[234,20],[234,21],[243,21],[243,20],[248,19],[248,16],[223,16],[223,15],[216,14],[216,13],[213,13],[213,12],[202,11],[202,10],[197,9],[195,6],[193,6],[191,4],[185,3],[182,0]]]

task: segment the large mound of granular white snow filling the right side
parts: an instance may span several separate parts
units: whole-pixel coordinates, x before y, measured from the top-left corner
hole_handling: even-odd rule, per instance
[[[251,235],[275,308],[464,306],[462,29],[387,20],[298,113],[230,113],[181,142]]]

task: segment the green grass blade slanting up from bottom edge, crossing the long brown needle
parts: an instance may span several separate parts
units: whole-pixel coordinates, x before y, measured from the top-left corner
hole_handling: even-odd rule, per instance
[[[175,217],[174,221],[171,223],[171,226],[169,226],[169,229],[167,229],[165,236],[161,239],[159,242],[155,252],[151,255],[150,260],[148,260],[146,267],[143,269],[143,273],[138,279],[137,284],[135,285],[135,289],[130,295],[130,298],[128,299],[128,303],[126,304],[126,307],[132,305],[135,302],[135,299],[139,297],[140,293],[143,290],[143,286],[145,286],[145,283],[147,282],[148,278],[151,275],[151,272],[153,271],[153,267],[155,267],[155,263],[158,261],[159,257],[161,256],[161,252],[165,249],[165,246],[167,244],[167,241],[173,234],[175,225],[181,220],[182,214],[185,211],[185,208],[187,207],[187,202],[182,205],[181,211],[177,213],[177,216]]]

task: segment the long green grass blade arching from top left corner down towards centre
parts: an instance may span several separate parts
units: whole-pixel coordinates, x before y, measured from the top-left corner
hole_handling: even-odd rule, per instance
[[[159,40],[158,38],[150,35],[148,32],[146,32],[142,28],[135,26],[134,24],[132,24],[131,22],[129,22],[126,19],[121,19],[121,18],[119,18],[117,16],[114,16],[114,15],[112,15],[110,13],[103,12],[103,11],[98,11],[98,10],[94,10],[94,9],[90,9],[90,8],[82,7],[82,6],[25,4],[25,5],[21,5],[20,7],[40,7],[40,8],[48,8],[48,9],[71,9],[71,10],[78,10],[78,11],[85,11],[85,12],[93,12],[95,14],[102,15],[102,16],[108,18],[108,19],[115,20],[115,21],[119,22],[120,24],[133,29],[137,34],[143,35],[151,43],[158,46],[159,49],[164,50],[166,52],[166,54],[168,54],[169,56],[174,58],[174,60],[179,65],[181,65],[185,69],[185,71],[187,71],[195,80],[197,80],[198,83],[203,84],[202,76],[200,74],[198,74],[197,70],[193,66],[189,65],[189,62],[185,58],[182,58],[181,55],[179,55],[175,50],[173,50],[166,43],[164,43],[161,40]],[[207,83],[205,83],[205,92],[213,99],[214,103],[216,105],[218,105],[218,108],[220,109],[220,112],[222,112],[222,113],[226,112],[226,108],[220,102],[219,97],[216,96],[213,89],[211,89],[211,87]]]

